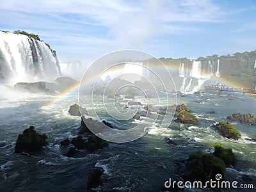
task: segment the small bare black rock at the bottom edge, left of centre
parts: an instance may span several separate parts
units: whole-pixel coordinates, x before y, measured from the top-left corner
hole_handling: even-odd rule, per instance
[[[101,184],[100,177],[104,173],[102,168],[93,169],[89,175],[87,180],[87,189],[97,188]]]

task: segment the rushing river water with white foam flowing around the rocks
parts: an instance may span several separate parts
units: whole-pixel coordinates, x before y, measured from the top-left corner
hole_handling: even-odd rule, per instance
[[[232,113],[256,115],[256,95],[204,93],[184,96],[177,95],[177,104],[187,104],[200,119],[198,125],[172,122],[163,133],[155,126],[138,140],[109,143],[108,148],[93,153],[81,150],[76,158],[63,156],[59,144],[65,138],[77,136],[81,118],[68,114],[69,106],[77,103],[76,94],[68,95],[52,106],[48,105],[55,99],[54,95],[22,94],[17,98],[11,94],[8,99],[2,98],[0,191],[87,191],[86,181],[93,167],[104,168],[103,184],[95,189],[97,191],[161,191],[166,180],[179,178],[180,161],[196,150],[211,152],[216,142],[232,147],[237,157],[236,166],[227,168],[225,179],[251,183],[256,187],[256,143],[246,140],[256,138],[256,127],[235,123],[242,134],[239,141],[223,138],[210,127],[213,122],[227,120]],[[136,100],[143,104],[142,98]],[[117,102],[123,106],[127,100],[120,97]],[[102,118],[120,129],[147,124],[147,119],[143,118],[122,124],[104,116],[104,106],[97,105]],[[86,107],[86,102],[83,107]],[[90,113],[92,109],[87,110]],[[49,145],[37,155],[15,154],[17,136],[30,125],[34,125],[37,132],[47,134]],[[167,145],[166,136],[179,145]]]

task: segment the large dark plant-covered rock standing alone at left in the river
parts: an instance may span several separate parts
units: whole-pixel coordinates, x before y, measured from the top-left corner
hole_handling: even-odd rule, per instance
[[[35,131],[35,127],[30,126],[29,129],[25,129],[22,134],[19,134],[15,145],[15,152],[38,152],[43,146],[48,145],[46,139],[46,134],[38,134]]]

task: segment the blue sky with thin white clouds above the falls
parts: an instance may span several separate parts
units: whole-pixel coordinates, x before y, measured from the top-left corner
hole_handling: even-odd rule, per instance
[[[137,49],[191,58],[256,49],[256,1],[0,0],[0,29],[40,35],[61,62]]]

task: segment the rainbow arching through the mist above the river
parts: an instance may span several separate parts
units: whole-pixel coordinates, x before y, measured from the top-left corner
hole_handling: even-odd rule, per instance
[[[152,67],[150,66],[150,68],[152,68]],[[157,68],[162,68],[162,67],[159,67],[159,65],[153,66],[153,70],[157,69]],[[166,68],[170,72],[176,72],[177,70],[179,70],[179,66],[177,66],[177,67],[166,66]],[[109,68],[109,70],[106,70],[100,76],[104,76],[104,77],[106,77],[106,76],[115,76],[116,77],[119,74],[123,74],[123,70],[124,70],[123,67]],[[188,70],[185,70],[185,71],[190,72]],[[78,93],[80,86],[84,86],[86,84],[94,83],[95,81],[97,81],[98,78],[99,78],[99,74],[97,74],[97,73],[96,74],[90,74],[89,77],[87,77],[86,79],[83,79],[83,81],[81,81],[80,83],[77,83],[77,84],[74,84],[73,86],[70,86],[69,88],[67,88],[63,92],[61,92],[59,95],[54,97],[54,99],[52,99],[46,106],[44,106],[44,109],[49,110],[53,106],[55,106],[56,104],[60,104],[60,102],[63,99],[65,99],[66,97],[68,97],[69,95],[73,95],[74,93]],[[218,82],[222,82],[222,83],[226,84],[229,87],[235,87],[235,88],[239,87],[234,82],[229,81],[228,79],[225,79],[225,77],[212,76],[211,80],[212,79],[214,79],[215,81],[218,81]]]

